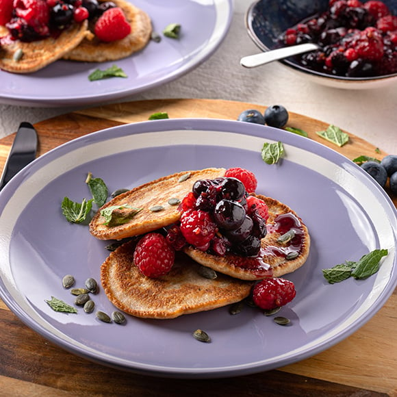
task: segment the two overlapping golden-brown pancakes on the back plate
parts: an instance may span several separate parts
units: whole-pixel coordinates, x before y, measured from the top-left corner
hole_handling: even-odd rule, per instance
[[[32,73],[61,58],[82,62],[105,62],[119,60],[144,48],[151,37],[151,19],[146,12],[125,0],[112,0],[120,7],[129,24],[131,33],[122,40],[101,42],[92,33],[94,27],[73,23],[60,36],[48,37],[33,42],[1,40],[0,69],[12,73]],[[8,30],[0,27],[0,37]],[[15,57],[17,52],[20,59]]]

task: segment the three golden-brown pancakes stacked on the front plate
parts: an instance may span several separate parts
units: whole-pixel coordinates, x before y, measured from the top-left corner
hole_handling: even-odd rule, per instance
[[[130,205],[142,208],[136,216],[123,225],[104,225],[101,212],[92,218],[90,233],[101,240],[120,240],[139,236],[166,227],[179,220],[181,213],[169,199],[180,201],[199,179],[215,179],[225,175],[225,168],[206,168],[179,172],[138,186],[120,194],[101,209],[110,206]],[[185,176],[188,175],[188,179]],[[302,266],[309,255],[310,238],[307,228],[287,205],[265,196],[257,196],[269,208],[268,225],[281,214],[293,214],[300,221],[303,231],[299,254],[286,259],[271,253],[264,254],[262,270],[250,270],[239,266],[236,255],[220,257],[203,253],[193,247],[185,253],[177,253],[172,270],[165,276],[150,279],[140,273],[133,264],[133,250],[136,240],[130,240],[118,247],[101,266],[101,283],[107,297],[119,309],[142,318],[175,318],[182,314],[195,313],[222,307],[246,298],[256,280],[279,277]],[[161,212],[151,208],[162,206]],[[261,247],[280,246],[279,233],[268,233],[261,241]],[[187,254],[187,255],[186,255]],[[194,259],[194,260],[192,260]],[[238,258],[241,261],[242,257]],[[203,277],[201,266],[216,270],[215,279]]]

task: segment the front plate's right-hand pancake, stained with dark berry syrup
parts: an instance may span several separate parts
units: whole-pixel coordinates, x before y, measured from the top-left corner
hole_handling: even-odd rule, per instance
[[[242,280],[280,277],[300,268],[309,255],[310,236],[307,227],[287,205],[270,197],[256,194],[255,196],[263,200],[269,209],[269,218],[266,222],[268,233],[261,240],[262,262],[264,264],[258,268],[258,263],[255,259],[231,254],[220,257],[199,251],[192,246],[184,248],[185,253],[203,266]],[[281,227],[280,223],[290,224],[292,227]],[[281,230],[277,231],[277,229]],[[280,236],[290,229],[296,231],[294,240],[286,244],[278,242]],[[292,256],[297,254],[297,256],[293,259],[287,259],[288,253],[291,253],[290,255]]]

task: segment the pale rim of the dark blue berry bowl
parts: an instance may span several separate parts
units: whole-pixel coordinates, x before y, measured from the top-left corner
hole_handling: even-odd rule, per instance
[[[244,18],[244,23],[246,26],[246,31],[248,32],[248,36],[253,40],[253,42],[257,45],[259,49],[262,51],[271,51],[269,47],[267,47],[260,39],[259,37],[255,34],[255,31],[252,28],[252,25],[250,21],[253,20],[252,14],[253,10],[255,9],[255,6],[260,3],[263,0],[256,0],[251,3],[251,5],[248,7],[246,10],[245,18]],[[324,79],[329,79],[329,81],[346,81],[349,83],[361,83],[365,81],[384,81],[386,79],[390,79],[393,77],[397,77],[397,72],[392,73],[390,75],[381,75],[381,76],[370,76],[370,77],[348,77],[348,76],[337,76],[337,75],[329,75],[328,73],[322,73],[318,71],[313,71],[309,68],[305,68],[305,66],[301,66],[299,64],[295,64],[294,62],[288,61],[288,60],[279,60],[277,62],[280,62],[281,64],[293,68],[294,71],[298,71],[300,73],[305,73],[310,76],[316,76],[316,77],[321,77]]]

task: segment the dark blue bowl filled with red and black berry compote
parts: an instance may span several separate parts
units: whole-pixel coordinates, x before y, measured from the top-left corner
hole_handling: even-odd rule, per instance
[[[263,51],[318,44],[280,62],[319,84],[360,89],[397,82],[397,0],[259,0],[246,12],[246,27]]]

